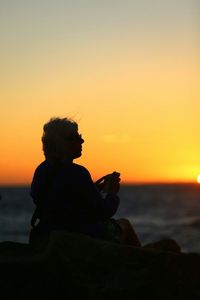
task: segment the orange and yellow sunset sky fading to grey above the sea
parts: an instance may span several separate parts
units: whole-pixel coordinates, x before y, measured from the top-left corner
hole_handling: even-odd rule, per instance
[[[71,117],[92,178],[200,174],[199,4],[0,0],[0,185],[30,184],[42,127]]]

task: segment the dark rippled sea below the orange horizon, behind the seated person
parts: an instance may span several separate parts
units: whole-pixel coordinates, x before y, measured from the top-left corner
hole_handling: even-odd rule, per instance
[[[200,185],[122,185],[115,218],[128,218],[142,245],[173,238],[200,253]],[[28,243],[34,204],[30,187],[0,187],[0,242]]]

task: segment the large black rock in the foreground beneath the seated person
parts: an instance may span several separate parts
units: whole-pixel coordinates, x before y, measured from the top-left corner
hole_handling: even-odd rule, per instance
[[[53,232],[0,243],[0,299],[200,299],[200,255]]]

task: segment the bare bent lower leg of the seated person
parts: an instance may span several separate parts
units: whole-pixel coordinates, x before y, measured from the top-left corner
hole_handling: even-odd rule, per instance
[[[136,246],[136,247],[141,247],[140,240],[133,229],[133,226],[129,222],[129,220],[122,218],[116,220],[116,222],[119,224],[119,226],[122,229],[122,242],[128,245]]]

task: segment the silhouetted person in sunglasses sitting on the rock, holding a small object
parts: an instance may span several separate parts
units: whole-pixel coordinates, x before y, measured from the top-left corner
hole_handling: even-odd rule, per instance
[[[43,130],[45,160],[36,168],[31,184],[36,210],[30,242],[51,231],[66,230],[140,246],[128,220],[112,219],[120,203],[119,173],[93,183],[88,170],[73,162],[81,156],[84,143],[73,120],[52,118]]]

